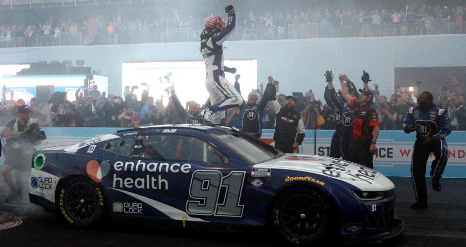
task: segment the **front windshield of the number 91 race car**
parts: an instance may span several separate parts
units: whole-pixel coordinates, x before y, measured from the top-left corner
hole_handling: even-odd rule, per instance
[[[239,132],[228,134],[212,132],[211,135],[223,141],[252,164],[263,163],[284,155],[283,152],[274,149],[272,146]]]

